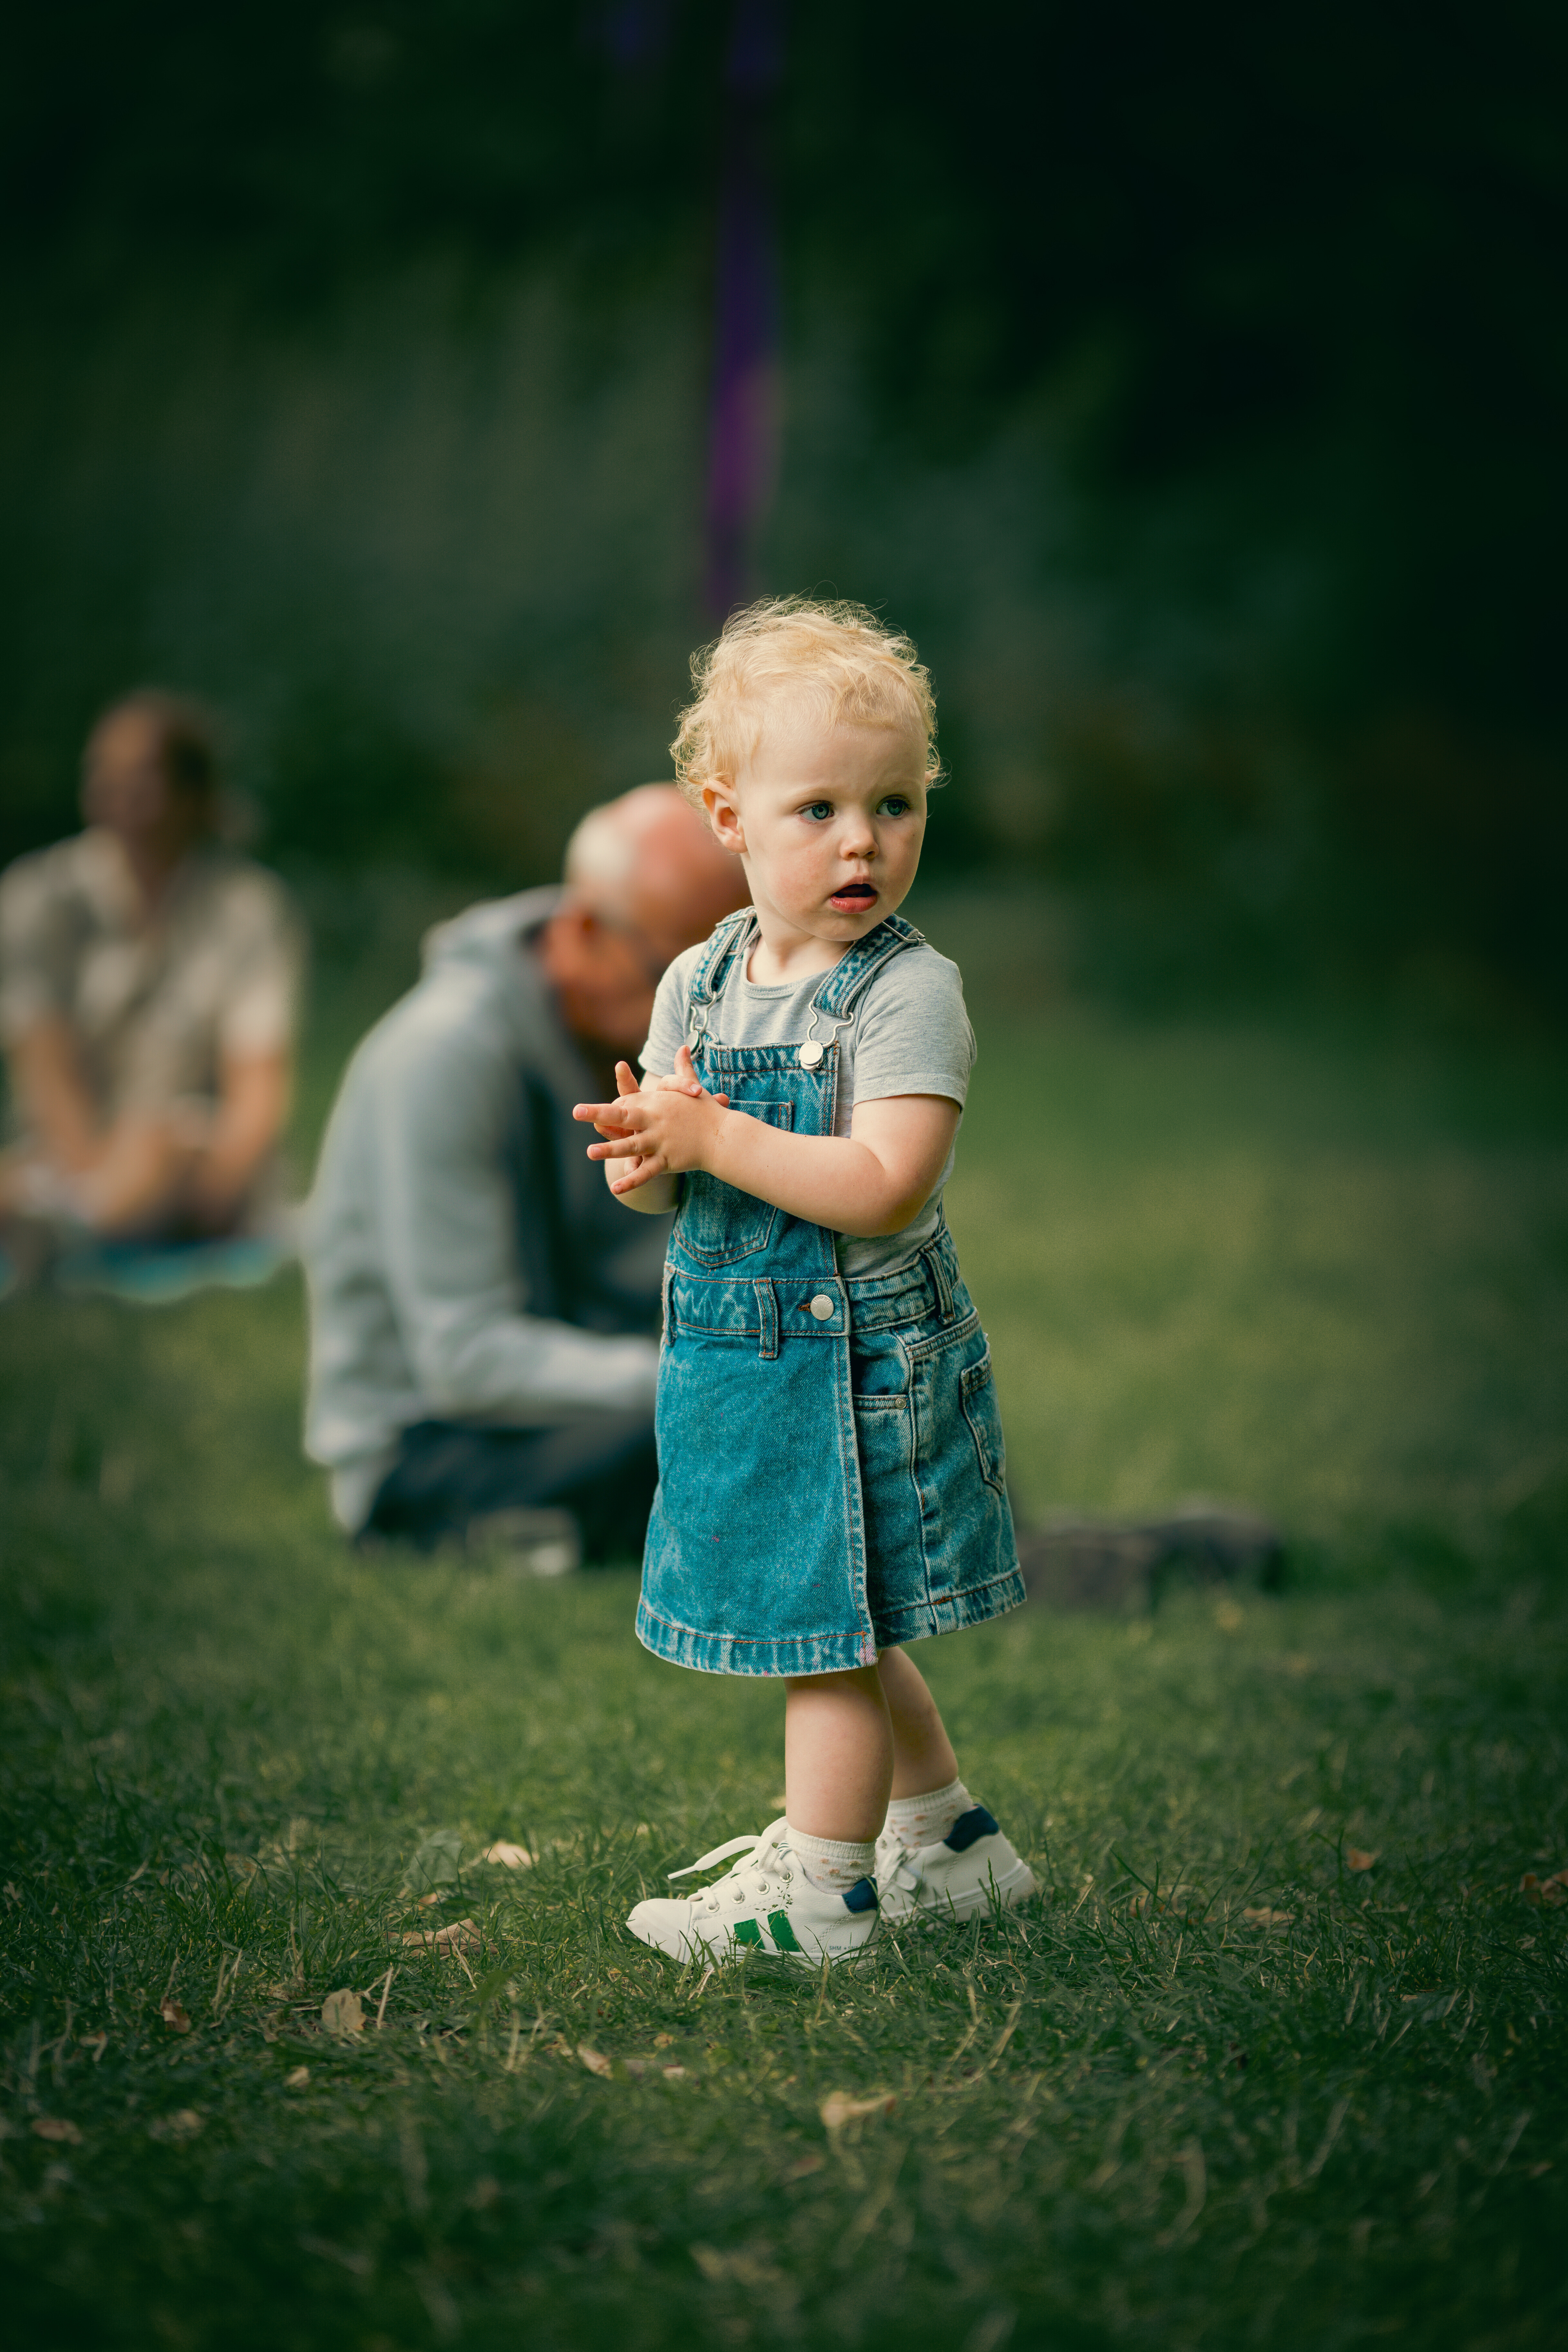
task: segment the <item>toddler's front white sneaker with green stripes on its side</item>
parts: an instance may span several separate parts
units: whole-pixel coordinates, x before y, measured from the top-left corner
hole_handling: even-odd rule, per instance
[[[675,1959],[738,1959],[743,1952],[778,1952],[818,1969],[825,1959],[849,1959],[877,1933],[877,1889],[860,1879],[846,1896],[813,1886],[790,1853],[788,1823],[771,1823],[762,1837],[731,1837],[672,1879],[693,1870],[741,1860],[696,1896],[651,1896],[625,1922],[632,1936]]]

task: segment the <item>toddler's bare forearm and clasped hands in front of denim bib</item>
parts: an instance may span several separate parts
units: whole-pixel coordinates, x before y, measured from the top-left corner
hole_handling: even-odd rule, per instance
[[[682,1047],[675,1080],[658,1091],[623,1091],[618,1103],[578,1103],[574,1117],[592,1120],[607,1138],[590,1143],[588,1157],[621,1164],[609,1181],[618,1200],[703,1169],[788,1216],[872,1237],[903,1232],[931,1200],[952,1150],[959,1105],[945,1094],[898,1094],[856,1103],[849,1136],[792,1136],[743,1110],[726,1110],[722,1096],[703,1094]],[[635,1155],[628,1155],[628,1143],[635,1143]]]

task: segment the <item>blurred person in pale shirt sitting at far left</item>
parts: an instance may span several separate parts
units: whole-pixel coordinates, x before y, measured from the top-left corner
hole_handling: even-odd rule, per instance
[[[0,1244],[254,1228],[289,1108],[303,931],[275,875],[216,840],[207,715],[139,691],[87,741],[87,828],[0,877],[0,1037],[21,1136]]]

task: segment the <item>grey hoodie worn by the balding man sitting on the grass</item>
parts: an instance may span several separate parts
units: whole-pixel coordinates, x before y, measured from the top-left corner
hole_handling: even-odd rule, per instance
[[[665,1221],[628,1216],[571,1105],[597,1082],[524,941],[536,889],[468,908],[355,1051],[306,1214],[306,1451],[357,1529],[416,1421],[654,1409]]]

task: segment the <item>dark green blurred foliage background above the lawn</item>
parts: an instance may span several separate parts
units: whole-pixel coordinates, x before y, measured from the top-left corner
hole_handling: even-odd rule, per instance
[[[919,633],[938,858],[1037,868],[1145,995],[1561,1000],[1530,0],[16,12],[0,851],[150,673],[233,715],[284,861],[515,882],[658,774],[712,626],[726,59],[769,28],[755,576]]]

